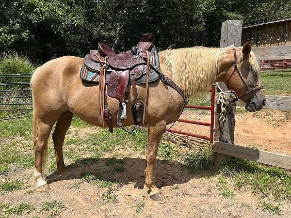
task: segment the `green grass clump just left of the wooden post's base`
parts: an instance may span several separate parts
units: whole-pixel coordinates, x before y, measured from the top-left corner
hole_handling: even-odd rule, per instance
[[[214,151],[210,144],[206,144],[200,153],[186,152],[181,163],[186,165],[192,173],[211,170],[214,166]]]

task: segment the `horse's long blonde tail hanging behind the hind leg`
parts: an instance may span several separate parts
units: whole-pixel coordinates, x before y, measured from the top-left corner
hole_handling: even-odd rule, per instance
[[[37,68],[38,69],[38,68]],[[34,97],[33,97],[33,80],[35,78],[35,74],[37,73],[37,69],[34,71],[33,75],[32,75],[32,79],[30,82],[31,88],[32,88],[32,106],[33,106],[33,111],[32,111],[32,125],[33,125],[33,143],[35,146],[36,143],[36,138],[37,138],[37,134],[38,134],[38,125],[39,125],[39,118],[36,114],[36,107],[35,107],[35,101],[34,101]],[[47,162],[48,162],[48,143],[46,143],[47,146],[45,147],[44,151],[41,154],[41,169],[42,172],[44,173],[47,170]],[[34,148],[35,149],[35,148]]]

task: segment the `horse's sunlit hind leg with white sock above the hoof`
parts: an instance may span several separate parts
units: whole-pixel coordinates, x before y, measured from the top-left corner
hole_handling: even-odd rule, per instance
[[[49,190],[47,181],[43,178],[43,170],[47,162],[47,146],[49,134],[54,122],[44,123],[36,114],[33,114],[33,143],[34,143],[34,180],[36,181],[37,191]]]

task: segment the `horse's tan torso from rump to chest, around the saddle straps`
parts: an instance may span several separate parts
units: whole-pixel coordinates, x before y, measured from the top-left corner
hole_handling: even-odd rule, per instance
[[[60,114],[70,110],[85,122],[99,126],[98,84],[84,82],[80,78],[82,58],[65,56],[45,63],[37,69],[33,82],[33,96],[41,113]],[[145,102],[145,84],[137,85],[139,99]],[[123,125],[133,125],[131,105],[133,94],[129,90],[128,120]],[[175,122],[183,108],[182,97],[171,87],[167,89],[161,80],[149,84],[146,123],[155,125],[164,120]],[[108,97],[108,107],[116,123],[119,102]],[[105,122],[106,125],[106,122]]]

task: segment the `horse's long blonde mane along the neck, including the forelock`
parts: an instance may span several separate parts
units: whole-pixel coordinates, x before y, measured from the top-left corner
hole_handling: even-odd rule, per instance
[[[204,91],[215,82],[220,72],[220,65],[226,55],[226,50],[234,46],[224,48],[190,47],[168,49],[159,53],[164,60],[162,71],[169,75],[184,90],[187,96]],[[239,50],[238,64],[242,62],[242,47]],[[259,65],[253,52],[250,54],[250,65],[253,74],[259,72]]]

